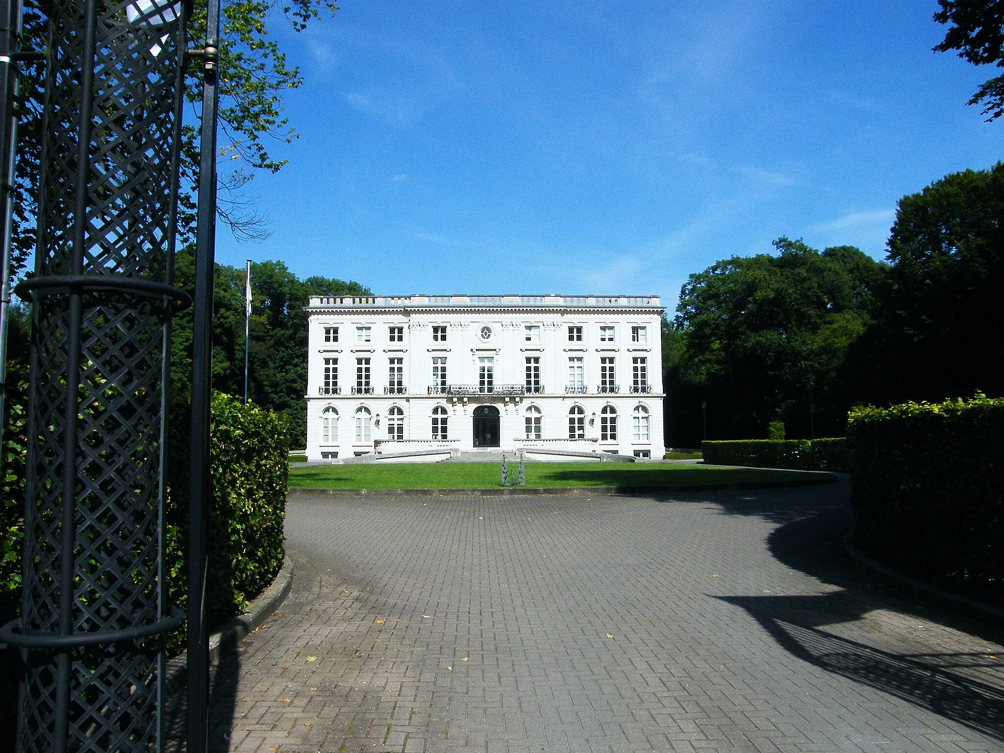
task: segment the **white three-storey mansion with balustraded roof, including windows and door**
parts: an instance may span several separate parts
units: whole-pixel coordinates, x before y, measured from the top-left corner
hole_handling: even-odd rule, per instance
[[[658,296],[321,296],[306,311],[309,460],[663,457]]]

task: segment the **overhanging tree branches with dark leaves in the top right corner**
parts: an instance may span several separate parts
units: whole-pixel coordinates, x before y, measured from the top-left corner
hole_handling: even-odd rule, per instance
[[[1004,67],[1004,2],[1001,0],[938,0],[938,23],[949,24],[937,52],[958,50],[974,65]],[[987,122],[1004,114],[1004,75],[994,76],[976,90],[968,104],[984,103]]]

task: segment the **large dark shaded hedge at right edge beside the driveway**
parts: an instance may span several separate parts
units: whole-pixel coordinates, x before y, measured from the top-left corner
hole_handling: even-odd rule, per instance
[[[859,408],[847,424],[854,539],[922,577],[1004,578],[1004,399]]]

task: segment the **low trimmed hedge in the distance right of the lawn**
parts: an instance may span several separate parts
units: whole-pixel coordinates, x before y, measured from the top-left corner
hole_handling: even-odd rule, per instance
[[[703,442],[704,462],[712,465],[791,468],[800,471],[844,471],[842,437],[818,440],[737,440]]]

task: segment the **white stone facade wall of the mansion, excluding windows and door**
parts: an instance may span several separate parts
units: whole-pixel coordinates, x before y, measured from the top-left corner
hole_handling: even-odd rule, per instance
[[[436,303],[430,304],[430,299]],[[480,405],[495,406],[500,413],[501,449],[536,445],[633,455],[648,451],[661,458],[663,445],[663,384],[660,317],[663,308],[656,296],[618,296],[612,299],[578,296],[471,296],[318,297],[307,308],[309,359],[307,378],[307,457],[323,454],[338,458],[370,453],[374,441],[388,440],[392,409],[404,413],[408,449],[442,446],[432,439],[432,412],[442,406],[448,412],[448,442],[468,452],[473,447],[473,412]],[[533,301],[527,304],[525,301]],[[569,303],[566,301],[574,301]],[[609,301],[613,302],[609,302]],[[434,341],[433,327],[447,327],[447,339]],[[403,327],[404,341],[391,340],[391,327]],[[539,327],[539,342],[526,340],[527,326]],[[582,327],[582,341],[569,341],[568,327]],[[632,327],[646,327],[647,341],[634,342]],[[325,327],[338,328],[338,341],[325,342]],[[360,342],[357,327],[369,327],[369,341]],[[482,335],[483,327],[490,332]],[[600,327],[613,327],[612,342],[600,341]],[[447,384],[479,384],[478,359],[494,358],[494,386],[525,386],[525,358],[540,358],[542,395],[430,396],[433,357],[447,358]],[[631,394],[632,359],[648,359],[651,393]],[[404,360],[405,395],[386,395],[392,357]],[[567,395],[568,358],[583,359],[587,393]],[[597,395],[600,357],[612,357],[616,395]],[[322,395],[324,358],[337,358],[339,395]],[[369,358],[371,395],[353,395],[356,359]],[[585,411],[586,441],[569,442],[568,412],[573,405]],[[601,411],[611,405],[617,412],[617,439],[600,440]],[[637,406],[649,411],[649,440],[636,440],[633,412]],[[542,441],[527,440],[525,416],[529,406],[542,414]],[[325,408],[337,411],[337,438],[322,437]],[[369,411],[368,441],[356,439],[355,415]],[[385,452],[395,451],[383,445]],[[498,452],[498,450],[494,450]]]

